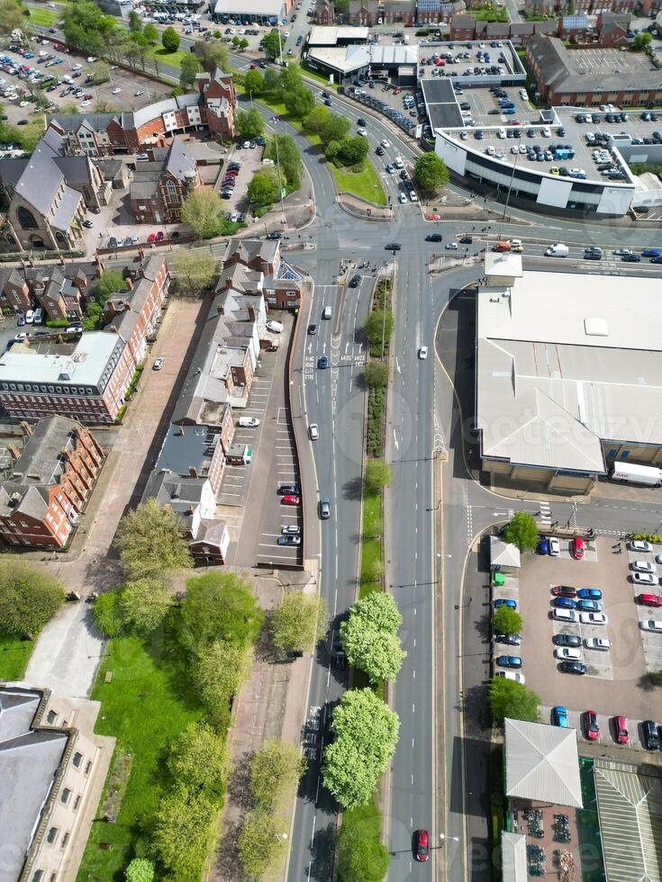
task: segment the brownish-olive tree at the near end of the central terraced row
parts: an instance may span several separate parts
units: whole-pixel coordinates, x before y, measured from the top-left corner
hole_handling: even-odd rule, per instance
[[[157,500],[141,502],[124,515],[114,545],[131,581],[154,579],[169,570],[190,567],[191,554],[183,533],[182,518],[162,509]]]

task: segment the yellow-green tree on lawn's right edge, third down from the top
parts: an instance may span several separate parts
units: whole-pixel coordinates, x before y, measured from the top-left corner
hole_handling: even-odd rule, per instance
[[[173,744],[168,771],[186,789],[219,800],[231,768],[225,739],[204,723],[191,723]]]

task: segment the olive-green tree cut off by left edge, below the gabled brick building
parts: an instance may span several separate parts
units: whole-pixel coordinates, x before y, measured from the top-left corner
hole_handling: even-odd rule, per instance
[[[15,558],[0,563],[0,631],[37,635],[63,602],[62,585],[50,573]]]

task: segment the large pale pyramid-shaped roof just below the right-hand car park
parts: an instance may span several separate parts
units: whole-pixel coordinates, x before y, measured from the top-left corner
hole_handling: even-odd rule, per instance
[[[507,718],[504,728],[506,796],[582,808],[576,730]]]

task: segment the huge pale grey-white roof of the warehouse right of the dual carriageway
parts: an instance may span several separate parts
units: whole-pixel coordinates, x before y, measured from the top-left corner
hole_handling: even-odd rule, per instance
[[[657,279],[526,271],[477,303],[482,455],[604,473],[603,441],[662,445]]]

